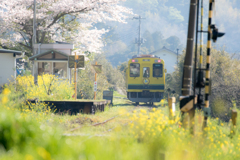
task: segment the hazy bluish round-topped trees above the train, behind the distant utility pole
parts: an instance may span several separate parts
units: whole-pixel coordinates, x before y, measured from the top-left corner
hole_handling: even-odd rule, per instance
[[[178,37],[170,36],[169,38],[164,39],[160,31],[150,33],[146,30],[142,38],[144,39],[144,43],[141,45],[140,54],[150,54],[164,46],[172,51],[176,51],[176,49],[182,50],[183,48]],[[124,42],[118,40],[105,47],[106,57],[113,66],[118,66],[127,61],[133,55],[137,55],[137,52],[138,47],[134,42],[126,47]]]

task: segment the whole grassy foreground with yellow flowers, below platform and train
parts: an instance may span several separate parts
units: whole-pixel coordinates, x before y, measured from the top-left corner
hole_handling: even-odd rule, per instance
[[[114,96],[120,97],[116,92]],[[134,106],[129,100],[114,98],[114,106],[104,112],[72,116],[20,112],[10,104],[0,103],[0,159],[139,160],[161,159],[163,154],[169,160],[240,157],[239,123],[232,135],[231,123],[209,118],[209,129],[202,132],[203,117],[197,112],[193,136],[179,127],[179,117],[168,120],[166,102],[146,107],[144,103]],[[112,117],[105,124],[93,126]]]

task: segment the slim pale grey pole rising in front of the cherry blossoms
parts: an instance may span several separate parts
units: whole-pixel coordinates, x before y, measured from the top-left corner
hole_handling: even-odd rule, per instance
[[[36,44],[36,0],[34,0],[33,4],[33,36],[32,36],[32,51],[33,55],[36,54],[34,44]],[[33,75],[34,75],[34,84],[38,84],[38,64],[37,61],[33,61]]]

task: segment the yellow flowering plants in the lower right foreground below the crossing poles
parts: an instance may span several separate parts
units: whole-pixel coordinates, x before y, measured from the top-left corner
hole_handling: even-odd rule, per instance
[[[197,113],[193,122],[195,132],[191,135],[188,129],[181,127],[178,116],[175,120],[169,119],[163,110],[153,108],[133,112],[130,132],[148,146],[150,159],[161,154],[167,159],[238,159],[240,156],[236,142],[239,134],[231,139],[233,132],[225,123],[218,125],[218,118],[209,119],[208,127],[202,131],[203,117]]]

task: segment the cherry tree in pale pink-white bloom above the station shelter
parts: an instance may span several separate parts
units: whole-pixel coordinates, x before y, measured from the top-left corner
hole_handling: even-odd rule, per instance
[[[106,29],[95,23],[118,21],[132,14],[125,0],[36,0],[37,43],[70,42],[81,51],[100,52]],[[0,44],[32,54],[34,0],[0,0]]]

